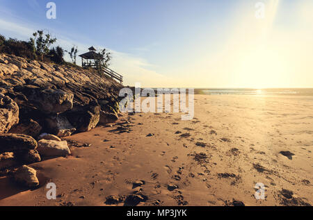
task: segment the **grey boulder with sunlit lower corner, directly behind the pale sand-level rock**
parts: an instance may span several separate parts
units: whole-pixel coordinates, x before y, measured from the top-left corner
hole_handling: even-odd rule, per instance
[[[51,133],[58,137],[67,137],[76,131],[76,128],[63,115],[47,117],[46,126]]]

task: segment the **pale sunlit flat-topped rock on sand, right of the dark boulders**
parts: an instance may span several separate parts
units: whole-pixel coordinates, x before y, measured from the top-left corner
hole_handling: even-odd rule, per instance
[[[38,152],[40,155],[48,157],[63,157],[71,153],[66,141],[58,142],[51,139],[40,139],[38,141]]]

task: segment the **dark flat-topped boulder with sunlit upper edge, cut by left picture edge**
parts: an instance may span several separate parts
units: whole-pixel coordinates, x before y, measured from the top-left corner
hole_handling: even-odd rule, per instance
[[[0,153],[28,151],[37,148],[33,137],[19,134],[0,134]]]

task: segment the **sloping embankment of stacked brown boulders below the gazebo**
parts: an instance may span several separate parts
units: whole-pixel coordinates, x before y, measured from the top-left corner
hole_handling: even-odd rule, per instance
[[[25,131],[28,124],[24,121],[33,120],[42,127],[42,132],[65,137],[95,128],[100,118],[106,123],[118,116],[118,92],[122,86],[111,78],[81,67],[3,54],[0,58],[3,60],[0,63],[0,92],[2,96],[10,97],[10,103],[17,103],[22,121],[12,130],[14,133],[37,136],[35,130],[33,133]],[[12,121],[12,125],[4,124],[3,132],[17,124],[17,116],[15,114],[15,120],[5,120]]]

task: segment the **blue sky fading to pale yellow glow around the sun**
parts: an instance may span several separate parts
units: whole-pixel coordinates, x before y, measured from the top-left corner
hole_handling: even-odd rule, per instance
[[[0,34],[109,49],[125,85],[313,87],[312,0],[54,0],[47,19],[50,1],[0,0]]]

